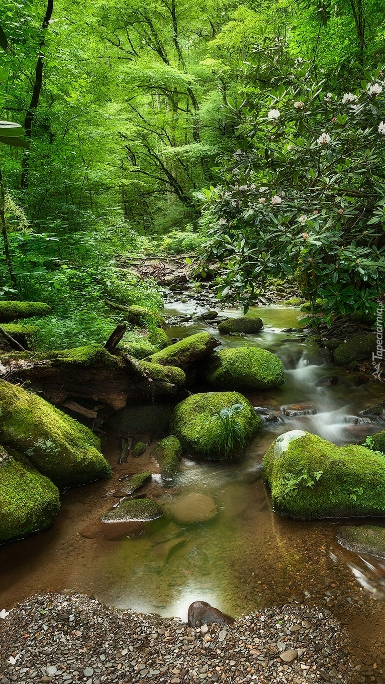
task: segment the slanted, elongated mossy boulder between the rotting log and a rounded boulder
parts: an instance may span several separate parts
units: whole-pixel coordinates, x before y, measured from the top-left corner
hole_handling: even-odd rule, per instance
[[[209,332],[197,332],[195,335],[190,335],[180,342],[165,347],[156,354],[151,354],[145,360],[162,366],[177,366],[186,370],[192,363],[201,361],[205,356],[208,356],[218,345],[218,340],[212,337]]]

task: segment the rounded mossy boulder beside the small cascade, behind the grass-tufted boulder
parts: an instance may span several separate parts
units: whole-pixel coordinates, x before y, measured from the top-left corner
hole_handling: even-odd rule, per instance
[[[258,347],[235,347],[210,354],[201,373],[203,380],[221,389],[274,389],[285,382],[284,364]]]

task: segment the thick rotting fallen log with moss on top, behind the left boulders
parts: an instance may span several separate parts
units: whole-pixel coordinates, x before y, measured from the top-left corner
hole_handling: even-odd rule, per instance
[[[29,381],[52,404],[67,398],[93,399],[123,408],[128,398],[185,396],[186,376],[180,368],[140,362],[125,352],[112,355],[100,345],[58,352],[1,354],[0,378]]]

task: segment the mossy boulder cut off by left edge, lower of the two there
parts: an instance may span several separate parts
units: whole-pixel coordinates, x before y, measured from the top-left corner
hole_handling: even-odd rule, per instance
[[[47,529],[60,511],[55,485],[11,453],[0,446],[0,544]]]

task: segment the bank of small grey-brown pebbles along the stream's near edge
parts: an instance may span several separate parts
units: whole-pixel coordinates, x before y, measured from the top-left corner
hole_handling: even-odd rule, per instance
[[[233,627],[190,629],[81,594],[45,594],[0,620],[0,684],[340,684],[351,681],[347,646],[330,611],[316,607],[284,605]]]

